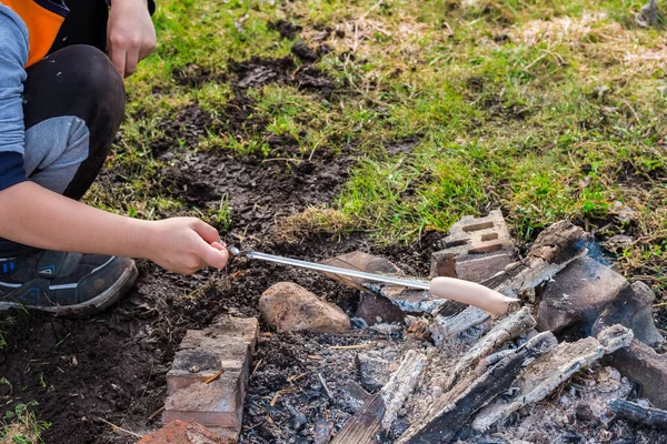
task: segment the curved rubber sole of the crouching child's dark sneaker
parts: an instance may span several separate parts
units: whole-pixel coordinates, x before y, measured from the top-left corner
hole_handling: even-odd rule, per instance
[[[0,310],[23,307],[27,310],[34,310],[39,312],[50,313],[54,316],[72,316],[72,317],[87,317],[96,313],[102,312],[109,306],[116,304],[137,281],[139,271],[137,265],[132,262],[126,271],[122,272],[120,278],[107,289],[102,294],[91,299],[90,301],[82,302],[76,305],[56,305],[56,306],[34,306],[34,305],[22,305],[16,302],[0,302]]]

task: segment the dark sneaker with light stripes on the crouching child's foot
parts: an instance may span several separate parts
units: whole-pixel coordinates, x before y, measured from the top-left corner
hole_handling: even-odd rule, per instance
[[[135,261],[41,250],[0,259],[0,310],[26,307],[86,316],[118,302],[137,280]]]

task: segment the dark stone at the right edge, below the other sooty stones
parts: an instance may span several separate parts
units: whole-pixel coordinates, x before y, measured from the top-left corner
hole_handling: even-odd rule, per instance
[[[667,408],[667,355],[657,354],[645,343],[633,340],[629,346],[604,357],[603,363],[641,386],[641,396],[658,408]]]

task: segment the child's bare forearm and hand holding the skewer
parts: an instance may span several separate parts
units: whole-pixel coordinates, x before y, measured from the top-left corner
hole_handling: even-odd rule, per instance
[[[196,218],[141,221],[108,213],[21,182],[0,191],[0,236],[31,246],[143,258],[179,273],[222,269],[218,231]]]

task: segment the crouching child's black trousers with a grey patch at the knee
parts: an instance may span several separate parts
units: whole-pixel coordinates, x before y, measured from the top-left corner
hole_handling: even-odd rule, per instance
[[[70,13],[47,58],[27,69],[23,120],[28,178],[79,200],[100,172],[125,112],[122,78],[102,52],[103,0],[68,0]],[[36,249],[0,239],[0,258]]]

